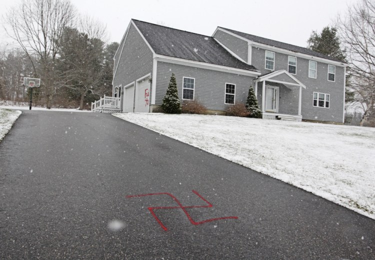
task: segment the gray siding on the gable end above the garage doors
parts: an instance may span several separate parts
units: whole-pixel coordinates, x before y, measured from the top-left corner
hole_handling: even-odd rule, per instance
[[[121,49],[119,49],[118,52],[121,52]],[[151,73],[152,77],[152,51],[133,24],[129,27],[128,35],[123,42],[121,57],[118,58],[119,63],[113,78],[113,86],[118,86],[120,84],[122,87],[126,86],[148,73]],[[151,83],[149,89],[151,97]],[[134,102],[135,92],[136,91],[134,91]]]

